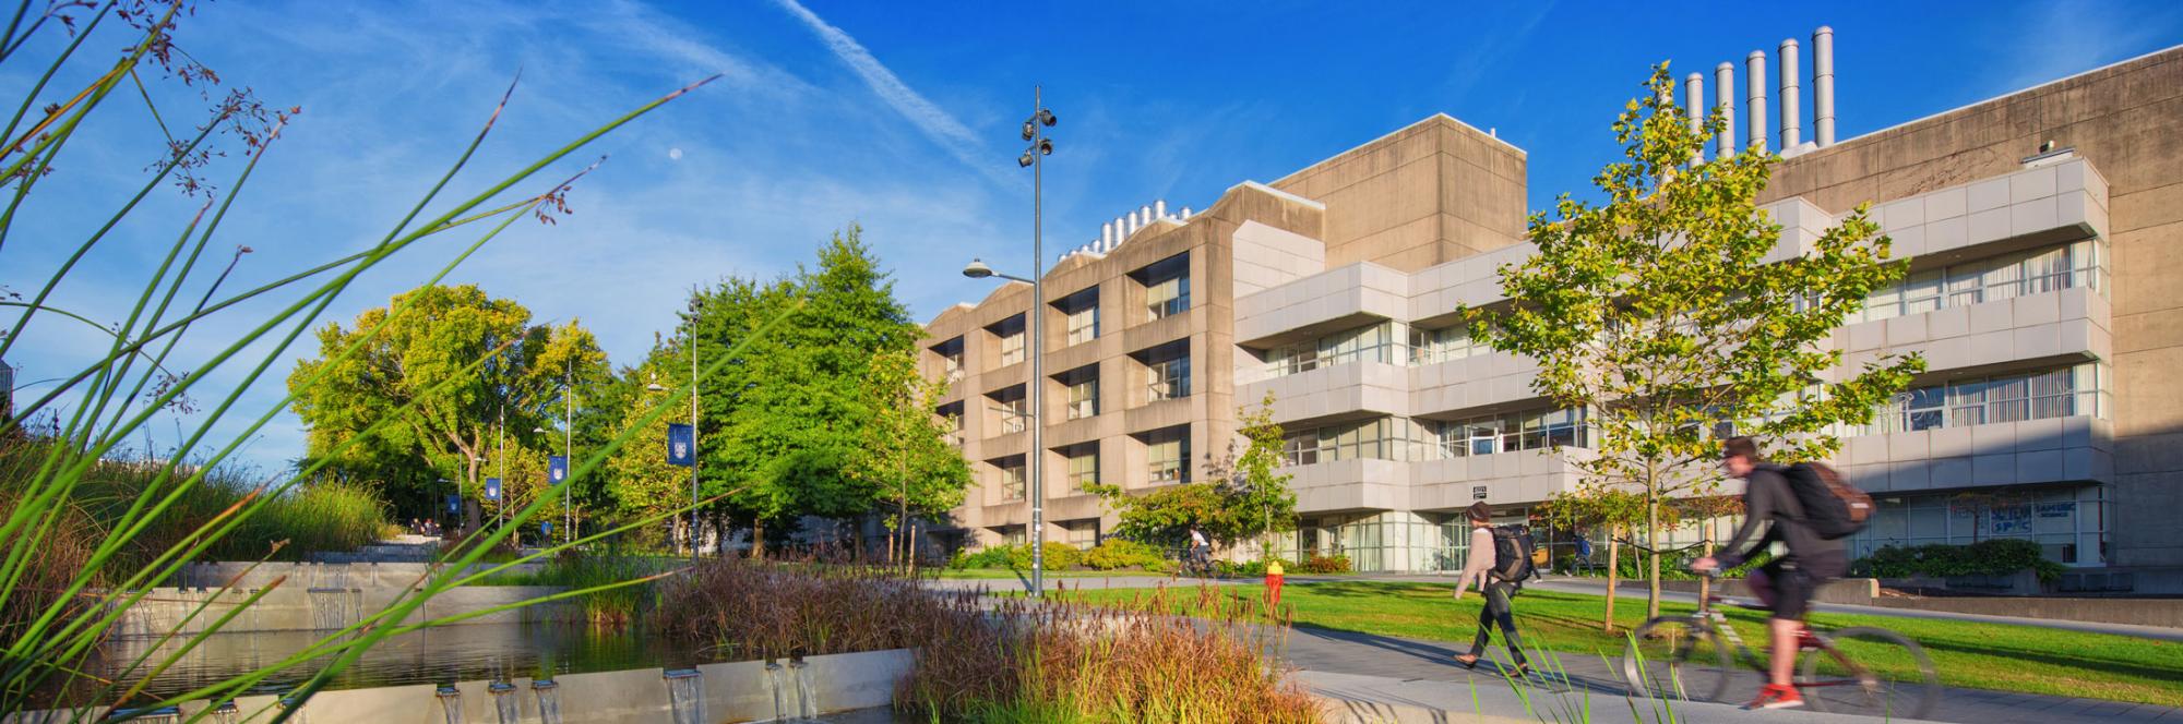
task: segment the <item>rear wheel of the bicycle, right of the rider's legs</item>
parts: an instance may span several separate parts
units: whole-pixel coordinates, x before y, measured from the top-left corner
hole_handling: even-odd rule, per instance
[[[1941,700],[1925,648],[1886,628],[1842,628],[1803,654],[1797,689],[1812,709],[1921,720]]]

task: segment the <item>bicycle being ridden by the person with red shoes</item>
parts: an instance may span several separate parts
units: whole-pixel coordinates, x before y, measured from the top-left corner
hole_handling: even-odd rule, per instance
[[[1622,545],[1650,554],[1690,547],[1661,552],[1629,541]],[[1720,571],[1705,571],[1705,576],[1718,582]],[[1661,615],[1631,632],[1622,652],[1622,676],[1633,691],[1663,700],[1714,702],[1729,691],[1735,663],[1768,676],[1766,652],[1753,652],[1744,643],[1729,626],[1729,617],[1714,611],[1718,602],[1729,600],[1707,595],[1690,615]],[[1766,611],[1751,604],[1738,606]],[[1797,643],[1803,661],[1799,661],[1792,683],[1816,711],[1919,720],[1932,713],[1941,700],[1941,678],[1934,674],[1925,648],[1899,632],[1875,626],[1816,630],[1808,624]],[[1864,661],[1886,667],[1888,674],[1901,674],[1908,665],[1910,676],[1908,680],[1884,678],[1875,665]]]

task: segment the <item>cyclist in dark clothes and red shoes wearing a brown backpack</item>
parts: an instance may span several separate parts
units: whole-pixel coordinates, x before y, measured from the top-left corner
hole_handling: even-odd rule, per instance
[[[1849,556],[1842,541],[1825,541],[1805,526],[1803,506],[1790,491],[1788,478],[1781,475],[1781,467],[1762,460],[1751,438],[1727,438],[1720,445],[1720,467],[1746,484],[1744,526],[1735,528],[1735,536],[1720,547],[1718,556],[1698,558],[1690,567],[1698,571],[1731,569],[1773,543],[1788,547],[1786,554],[1751,571],[1751,578],[1744,580],[1751,593],[1773,611],[1773,619],[1766,622],[1773,630],[1768,683],[1744,709],[1803,707],[1803,696],[1797,693],[1790,678],[1803,639],[1803,615],[1821,584],[1849,571]],[[1766,526],[1764,536],[1757,536],[1759,523],[1773,523]]]

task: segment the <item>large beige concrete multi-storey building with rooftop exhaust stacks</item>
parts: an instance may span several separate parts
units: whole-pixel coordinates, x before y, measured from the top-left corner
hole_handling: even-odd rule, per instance
[[[2080,569],[2074,589],[2183,589],[2183,382],[2168,375],[2183,294],[2166,288],[2183,281],[2183,48],[1840,142],[1829,31],[1810,85],[1794,41],[1781,81],[1764,52],[1746,61],[1749,94],[1714,102],[1742,100],[1749,131],[1731,124],[1720,148],[1781,148],[1762,198],[1777,255],[1873,203],[1910,257],[1832,340],[1849,364],[1919,351],[1930,366],[1877,423],[1842,430],[1838,467],[1882,502],[1856,547],[2024,536]],[[1113,519],[1076,482],[1188,480],[1227,454],[1236,406],[1273,393],[1301,512],[1288,545],[1360,569],[1454,565],[1460,508],[1519,519],[1576,484],[1565,460],[1591,445],[1583,410],[1530,390],[1528,360],[1454,325],[1530,253],[1524,212],[1524,150],[1432,116],[1201,214],[1109,225],[1046,277],[1046,379],[1019,364],[1030,286],[941,312],[926,364],[952,379],[939,412],[980,480],[961,532],[1022,541],[1024,471],[1046,464],[1048,539],[1089,545]],[[1033,382],[1048,386],[1043,451],[1019,432]]]

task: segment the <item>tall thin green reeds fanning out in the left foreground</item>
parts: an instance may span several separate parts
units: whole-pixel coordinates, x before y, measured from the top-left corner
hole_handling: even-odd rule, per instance
[[[44,11],[35,11],[37,7],[44,7]],[[109,102],[118,98],[116,92],[133,85],[144,102],[153,107],[153,113],[157,113],[159,109],[153,105],[151,94],[144,92],[142,74],[159,72],[164,76],[179,76],[196,83],[210,83],[214,79],[210,70],[190,61],[186,52],[175,50],[175,20],[188,17],[192,11],[188,0],[107,0],[90,7],[59,2],[35,4],[33,0],[22,0],[17,2],[7,31],[0,33],[0,68],[7,63],[26,63],[20,52],[26,46],[26,39],[39,31],[59,33],[59,17],[72,11],[87,15],[87,22],[76,26],[74,39],[52,57],[28,61],[44,63],[39,81],[24,94],[15,118],[9,120],[4,131],[0,131],[0,144],[4,144],[0,146],[0,194],[7,194],[9,198],[7,212],[0,212],[0,251],[4,251],[7,242],[13,238],[11,231],[17,209],[28,203],[37,203],[33,198],[33,190],[39,179],[44,179],[55,168],[55,159],[70,148],[70,142],[76,140],[79,129],[83,129],[85,118],[94,111],[116,107]],[[63,92],[65,100],[50,102],[39,111],[33,111],[52,79],[83,76],[76,72],[63,72],[63,68],[103,63],[85,57],[83,48],[111,48],[109,41],[85,44],[90,35],[107,31],[129,33],[133,39],[127,50],[114,59],[111,65],[105,65],[103,72],[92,72],[92,79],[81,89]],[[192,635],[181,635],[181,630],[194,628],[190,622],[177,624],[177,628],[168,630],[166,637],[186,639],[186,645],[157,648],[164,650],[164,654],[159,654],[162,659],[133,661],[124,667],[120,678],[90,680],[79,667],[79,663],[96,650],[107,632],[114,630],[124,611],[142,602],[148,587],[170,580],[181,565],[201,560],[210,554],[234,552],[234,545],[249,545],[255,534],[277,530],[277,521],[284,517],[343,517],[360,506],[360,491],[343,491],[338,486],[314,488],[306,484],[308,480],[319,478],[323,467],[310,464],[275,475],[264,484],[249,486],[227,506],[214,510],[210,517],[196,519],[194,523],[183,523],[183,530],[172,534],[177,519],[188,521],[192,515],[203,515],[207,510],[205,499],[210,493],[205,491],[223,486],[216,471],[227,469],[236,451],[288,406],[288,399],[279,399],[251,417],[251,412],[238,410],[242,406],[242,393],[282,362],[279,351],[293,345],[299,336],[308,334],[325,307],[332,305],[334,299],[338,299],[358,279],[358,275],[378,268],[397,253],[424,251],[426,240],[456,231],[482,229],[467,246],[461,246],[458,253],[445,260],[437,275],[424,279],[424,283],[437,283],[454,270],[456,264],[467,260],[482,244],[491,242],[515,220],[559,207],[568,190],[583,177],[583,172],[576,172],[561,181],[533,181],[533,177],[541,170],[561,164],[600,135],[611,133],[705,83],[709,83],[709,79],[681,87],[596,129],[578,133],[572,142],[539,155],[535,161],[504,172],[489,183],[480,183],[476,192],[450,203],[445,212],[428,216],[426,209],[441,201],[441,194],[450,190],[456,177],[469,166],[472,155],[491,133],[509,100],[502,96],[500,105],[480,126],[478,135],[378,244],[242,292],[223,294],[218,283],[214,283],[212,290],[207,290],[194,305],[179,303],[179,299],[183,299],[181,290],[210,273],[205,268],[205,251],[214,249],[212,240],[218,238],[218,229],[223,227],[227,214],[236,209],[236,198],[240,198],[249,185],[251,172],[277,144],[288,124],[290,111],[269,111],[247,94],[229,94],[212,109],[210,120],[199,126],[199,133],[192,137],[172,137],[162,120],[162,133],[168,133],[164,146],[170,153],[151,168],[144,185],[138,188],[138,192],[129,201],[120,203],[109,216],[87,218],[87,229],[81,231],[81,238],[74,242],[74,251],[57,268],[46,273],[44,281],[35,283],[37,292],[31,299],[24,301],[22,297],[13,297],[0,301],[0,307],[17,312],[13,325],[7,329],[7,336],[0,338],[0,355],[4,355],[33,323],[92,325],[111,336],[111,345],[107,345],[103,353],[92,353],[96,360],[61,379],[41,397],[24,401],[13,417],[0,421],[0,436],[4,438],[22,438],[26,432],[24,421],[39,414],[52,423],[46,432],[46,445],[24,454],[22,460],[15,460],[20,464],[11,467],[4,488],[0,488],[4,491],[0,493],[0,504],[7,506],[7,515],[0,519],[0,539],[9,541],[4,560],[0,560],[0,608],[11,611],[11,615],[20,613],[20,622],[11,624],[11,637],[0,643],[0,711],[22,711],[37,702],[41,691],[74,691],[90,685],[94,693],[87,707],[76,707],[70,711],[70,717],[98,720],[103,709],[120,704],[162,707],[196,698],[234,698],[277,669],[325,659],[330,663],[325,663],[325,667],[310,683],[290,693],[295,700],[308,700],[314,691],[325,687],[332,676],[351,665],[362,650],[391,635],[546,600],[563,600],[642,584],[642,578],[603,582],[587,589],[535,598],[530,602],[404,624],[415,619],[415,613],[426,600],[448,591],[450,587],[504,571],[509,565],[522,560],[559,554],[568,547],[557,545],[498,567],[469,571],[472,563],[478,563],[487,550],[506,541],[515,528],[528,523],[546,499],[559,497],[541,495],[537,504],[511,510],[509,526],[476,532],[474,536],[482,545],[472,545],[465,554],[445,560],[445,567],[419,578],[410,593],[402,595],[386,608],[362,617],[345,630],[327,635],[317,645],[310,645],[286,661],[275,661],[262,669],[210,683],[196,691],[162,700],[135,698],[148,676],[155,676],[203,643],[205,637],[218,632],[218,628],[234,617],[234,613],[227,613],[225,617],[210,622],[210,626],[203,626],[201,632]],[[509,94],[513,94],[513,89],[515,85],[509,87]],[[124,321],[114,327],[103,327],[85,314],[52,305],[52,292],[65,279],[76,275],[79,262],[85,260],[85,255],[90,255],[100,242],[109,240],[109,233],[124,220],[142,216],[138,214],[138,205],[153,190],[164,183],[175,183],[186,192],[203,188],[203,174],[207,172],[207,161],[212,159],[207,142],[214,137],[216,129],[236,129],[236,135],[244,140],[247,153],[242,155],[242,168],[231,181],[225,183],[223,196],[218,196],[218,201],[207,201],[192,218],[179,222],[175,242],[164,255],[146,264],[140,277],[142,288],[133,297]],[[535,190],[515,192],[517,185],[526,183],[535,183]],[[336,201],[330,198],[330,203]],[[231,266],[234,260],[229,260],[227,268]],[[220,270],[218,281],[225,281],[225,270]],[[290,294],[295,299],[275,312],[240,316],[244,312],[238,310],[238,305],[269,294]],[[391,310],[389,316],[404,312],[406,310],[397,307]],[[782,318],[790,312],[784,312]],[[190,373],[172,373],[170,369],[179,364],[166,362],[170,362],[177,349],[181,349],[179,342],[183,336],[192,325],[216,314],[227,314],[229,321],[240,321],[240,327],[247,331],[227,345],[214,345],[216,353],[192,360],[192,364],[188,364],[192,369]],[[779,323],[779,318],[773,323]],[[771,323],[766,329],[771,329]],[[766,329],[760,329],[760,334]],[[249,349],[273,351],[255,353],[253,358]],[[354,347],[341,355],[347,358],[351,353],[356,353]],[[478,369],[482,369],[489,360],[491,353],[474,360],[469,373],[478,373]],[[725,364],[725,358],[714,366],[718,364]],[[234,373],[240,382],[227,390],[207,390],[205,382],[214,373]],[[301,384],[308,386],[319,382],[321,379],[306,379]],[[212,403],[199,410],[192,419],[194,427],[183,434],[172,454],[166,460],[148,464],[148,471],[129,478],[127,486],[111,484],[109,475],[103,475],[100,471],[111,467],[111,460],[124,449],[124,441],[140,434],[155,414],[175,410],[177,406],[192,406],[192,393],[205,395]],[[685,384],[677,390],[677,395],[692,395],[692,390]],[[640,421],[640,425],[655,425],[675,412],[675,408],[677,406],[661,401]],[[362,436],[341,443],[334,451],[356,445],[362,438],[382,432],[386,425],[399,423],[399,419],[410,412],[410,408],[395,410],[386,419],[375,421]],[[242,421],[242,430],[236,434],[216,434],[216,425],[227,419]],[[624,432],[613,443],[581,460],[570,480],[561,484],[572,484],[572,480],[594,475],[603,460],[613,449],[624,445],[629,436],[631,434]],[[229,491],[234,488],[229,486]],[[85,504],[87,495],[94,504]],[[657,517],[631,521],[624,528],[598,532],[570,545],[587,545],[631,528],[651,526],[685,510],[688,508],[666,510]],[[98,526],[103,536],[96,541],[59,536],[63,530],[83,526]],[[349,517],[336,528],[351,526],[365,526],[362,517]],[[351,532],[354,530],[336,532],[336,536]],[[166,539],[162,539],[162,534],[166,534]],[[310,543],[334,545],[327,541]],[[68,556],[70,560],[79,560],[79,565],[61,571],[44,565],[55,556]],[[199,606],[190,617],[201,617],[207,608]],[[286,720],[293,713],[295,709],[288,709],[273,713],[273,717]]]

